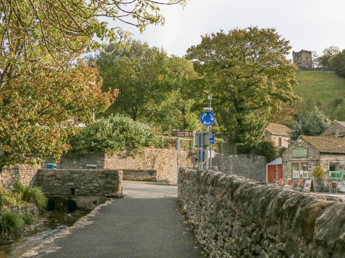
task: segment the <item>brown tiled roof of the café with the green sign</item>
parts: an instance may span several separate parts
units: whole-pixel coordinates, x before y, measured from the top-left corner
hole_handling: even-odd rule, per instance
[[[321,153],[345,154],[345,138],[321,136],[301,136],[301,138]]]

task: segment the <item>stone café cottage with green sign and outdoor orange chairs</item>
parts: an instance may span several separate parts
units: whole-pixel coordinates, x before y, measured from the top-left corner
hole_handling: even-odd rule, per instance
[[[283,178],[312,178],[311,170],[321,166],[328,179],[345,178],[345,139],[300,136],[283,152]]]

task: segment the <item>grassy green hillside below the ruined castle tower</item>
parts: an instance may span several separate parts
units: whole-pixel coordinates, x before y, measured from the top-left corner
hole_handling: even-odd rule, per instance
[[[336,99],[345,96],[345,78],[331,71],[298,71],[296,79],[299,86],[294,91],[303,99],[303,109],[310,110],[316,105],[334,118]]]

